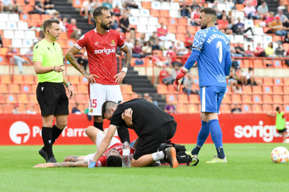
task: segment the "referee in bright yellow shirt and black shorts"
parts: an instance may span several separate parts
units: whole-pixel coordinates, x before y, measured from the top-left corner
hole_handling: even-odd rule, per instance
[[[68,97],[73,97],[73,88],[64,75],[64,57],[59,39],[61,29],[59,20],[47,19],[43,22],[45,38],[34,46],[34,70],[38,76],[36,90],[42,115],[42,139],[44,147],[38,152],[47,163],[57,163],[52,152],[52,145],[67,125]],[[56,123],[52,126],[55,116]]]

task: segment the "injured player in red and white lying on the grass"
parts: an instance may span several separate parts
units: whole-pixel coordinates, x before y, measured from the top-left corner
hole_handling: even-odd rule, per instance
[[[97,129],[96,127],[89,126],[85,129],[85,133],[91,141],[96,144],[98,148],[105,137],[105,132]],[[122,144],[117,138],[112,138],[108,149],[98,159],[95,167],[121,167],[122,166]],[[138,145],[138,141],[131,147],[131,155],[135,152],[135,147]],[[55,167],[88,167],[91,159],[94,158],[93,154],[87,156],[68,156],[62,163],[40,163],[34,168],[55,168]],[[160,163],[153,163],[151,166],[160,166]]]

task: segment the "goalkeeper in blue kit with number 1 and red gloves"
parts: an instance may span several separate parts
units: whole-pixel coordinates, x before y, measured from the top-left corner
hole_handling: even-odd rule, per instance
[[[195,61],[198,61],[202,127],[198,134],[197,145],[191,151],[191,155],[198,157],[202,145],[211,133],[217,156],[207,163],[227,163],[223,150],[223,135],[218,123],[218,110],[225,95],[226,79],[232,66],[230,43],[228,38],[214,26],[216,22],[214,9],[200,10],[199,22],[202,30],[195,33],[191,56],[177,75],[174,89],[179,91],[186,73],[193,67]]]

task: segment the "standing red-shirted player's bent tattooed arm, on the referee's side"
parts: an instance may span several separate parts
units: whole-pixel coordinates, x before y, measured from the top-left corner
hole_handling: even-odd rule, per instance
[[[75,47],[75,45],[73,45],[73,47],[71,47],[71,49],[69,49],[66,54],[65,54],[65,58],[71,63],[71,65],[73,65],[73,67],[75,67],[75,69],[79,72],[81,72],[81,74],[86,77],[88,79],[88,81],[90,81],[91,83],[96,83],[96,79],[94,79],[94,77],[98,78],[95,74],[90,74],[89,72],[85,71],[83,67],[80,66],[80,64],[77,62],[76,58],[75,58],[75,54],[78,54],[80,51],[80,49],[77,49],[77,47]]]

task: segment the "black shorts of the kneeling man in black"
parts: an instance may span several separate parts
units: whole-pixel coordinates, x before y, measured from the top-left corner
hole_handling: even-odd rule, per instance
[[[138,147],[135,149],[135,154],[133,154],[133,159],[137,160],[145,154],[157,152],[161,143],[163,143],[165,140],[171,139],[175,135],[176,131],[177,122],[173,120],[166,122],[156,131],[154,131],[154,133],[142,136],[140,143],[138,143]]]

